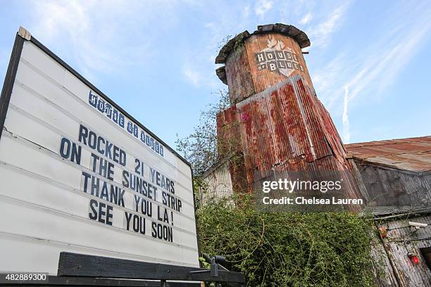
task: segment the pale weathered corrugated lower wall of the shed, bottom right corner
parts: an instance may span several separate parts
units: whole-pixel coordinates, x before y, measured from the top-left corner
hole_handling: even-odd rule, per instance
[[[431,216],[410,216],[408,219],[377,222],[377,227],[387,228],[387,237],[382,239],[387,255],[375,250],[375,260],[380,260],[381,257],[387,257],[390,260],[393,269],[389,272],[393,272],[399,286],[429,287],[431,286],[431,271],[425,264],[420,248],[431,246],[431,226],[415,231],[416,229],[408,226],[408,221],[430,224]],[[420,260],[418,265],[411,262],[408,252],[418,256]],[[387,274],[387,276],[391,276],[391,274]]]

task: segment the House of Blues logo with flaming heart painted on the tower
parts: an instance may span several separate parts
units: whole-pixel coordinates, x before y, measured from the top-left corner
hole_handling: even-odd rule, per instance
[[[304,72],[304,67],[299,63],[298,56],[292,49],[286,47],[281,40],[274,37],[268,39],[268,46],[261,52],[256,53],[258,70],[278,71],[289,77],[294,70]]]

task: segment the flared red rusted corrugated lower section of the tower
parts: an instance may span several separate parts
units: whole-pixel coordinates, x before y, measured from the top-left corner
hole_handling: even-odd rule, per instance
[[[238,142],[234,151],[244,155],[248,186],[266,177],[270,170],[350,168],[329,113],[301,75],[240,101],[217,119],[220,142]],[[354,182],[348,192],[360,198]]]

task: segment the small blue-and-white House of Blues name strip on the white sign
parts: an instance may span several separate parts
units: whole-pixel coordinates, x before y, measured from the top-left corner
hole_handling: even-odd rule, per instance
[[[153,136],[144,132],[144,130],[138,127],[135,122],[127,119],[120,110],[114,108],[110,103],[108,103],[108,101],[104,100],[104,98],[96,95],[93,91],[89,91],[88,103],[96,110],[99,110],[100,113],[106,115],[106,117],[113,121],[115,125],[125,129],[129,134],[135,136],[136,139],[141,141],[142,144],[151,148],[151,150],[158,155],[163,156],[163,145],[161,143],[154,139]]]

